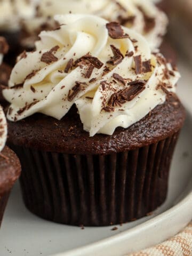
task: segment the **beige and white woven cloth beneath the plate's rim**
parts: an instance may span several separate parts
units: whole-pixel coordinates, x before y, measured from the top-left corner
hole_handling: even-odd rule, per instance
[[[192,256],[192,222],[166,242],[127,256]]]

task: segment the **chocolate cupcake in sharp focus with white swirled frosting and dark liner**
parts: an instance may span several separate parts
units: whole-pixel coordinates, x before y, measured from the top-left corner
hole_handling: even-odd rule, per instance
[[[69,225],[141,218],[166,199],[185,119],[180,75],[117,22],[55,19],[63,25],[39,35],[3,91],[25,205]]]

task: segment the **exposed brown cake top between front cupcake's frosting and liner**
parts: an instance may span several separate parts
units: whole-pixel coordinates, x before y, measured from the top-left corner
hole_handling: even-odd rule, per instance
[[[61,121],[43,114],[35,114],[16,123],[8,121],[8,142],[64,154],[105,155],[164,140],[180,130],[184,119],[185,110],[176,95],[172,95],[129,129],[119,127],[113,135],[95,134],[90,137],[83,130],[74,106]]]

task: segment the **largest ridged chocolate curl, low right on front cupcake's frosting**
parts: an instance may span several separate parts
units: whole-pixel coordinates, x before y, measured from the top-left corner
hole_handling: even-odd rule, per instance
[[[144,83],[135,83],[134,86],[127,87],[123,90],[115,92],[111,95],[108,106],[110,107],[121,107],[127,101],[133,100],[139,93],[145,90]]]

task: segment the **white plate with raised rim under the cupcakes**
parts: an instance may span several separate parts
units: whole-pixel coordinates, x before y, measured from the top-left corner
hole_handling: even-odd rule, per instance
[[[0,255],[121,256],[162,242],[192,219],[192,81],[185,63],[178,93],[188,110],[171,167],[169,195],[153,215],[122,227],[85,228],[42,220],[25,209],[17,184],[12,191],[0,231]],[[81,247],[81,248],[79,248]],[[57,254],[59,253],[59,254]]]

